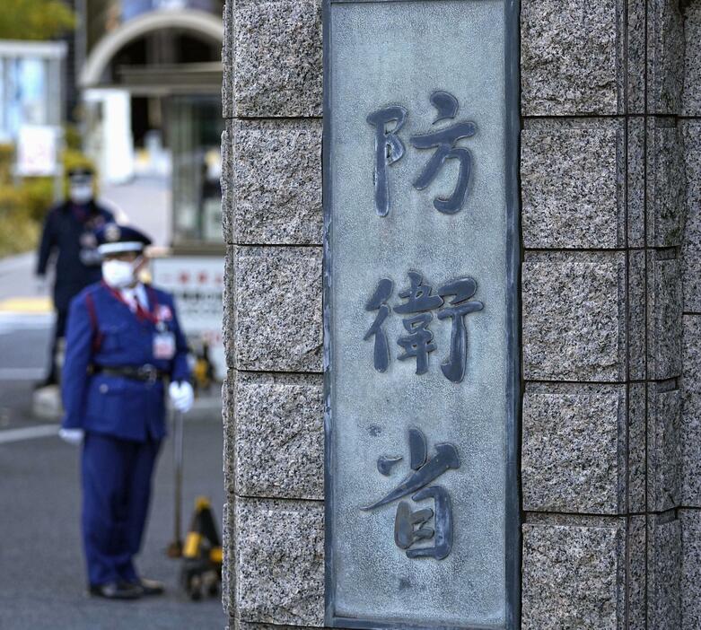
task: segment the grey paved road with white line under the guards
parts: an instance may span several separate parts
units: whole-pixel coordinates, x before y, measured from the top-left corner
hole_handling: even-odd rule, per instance
[[[79,450],[55,435],[4,442],[18,429],[46,425],[30,416],[31,371],[40,372],[50,318],[0,313],[0,628],[3,630],[189,630],[223,628],[218,598],[190,602],[177,585],[179,563],[163,550],[172,533],[171,442],[155,478],[153,509],[139,567],[167,583],[166,596],[110,602],[85,594],[79,535]],[[215,417],[215,416],[214,416]],[[56,426],[49,426],[54,431]],[[10,433],[15,432],[15,433]],[[222,428],[186,423],[188,512],[209,495],[221,520]]]

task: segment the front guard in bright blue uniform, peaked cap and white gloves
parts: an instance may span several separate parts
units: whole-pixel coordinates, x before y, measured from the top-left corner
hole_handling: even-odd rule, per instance
[[[96,234],[102,282],[71,302],[60,435],[83,442],[83,545],[90,592],[110,599],[160,594],[136,572],[151,477],[166,433],[166,389],[187,412],[188,348],[170,294],[138,281],[150,240],[109,223]]]

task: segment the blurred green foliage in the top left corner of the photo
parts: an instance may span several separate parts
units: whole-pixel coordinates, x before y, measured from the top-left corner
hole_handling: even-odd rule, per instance
[[[75,28],[75,13],[61,0],[3,0],[0,39],[53,39]]]

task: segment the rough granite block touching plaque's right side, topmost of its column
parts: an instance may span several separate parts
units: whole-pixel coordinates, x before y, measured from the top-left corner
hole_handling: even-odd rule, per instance
[[[521,3],[524,116],[622,111],[622,39],[617,0]]]

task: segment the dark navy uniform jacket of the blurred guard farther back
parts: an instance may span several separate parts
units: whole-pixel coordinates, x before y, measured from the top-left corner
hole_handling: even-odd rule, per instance
[[[112,221],[112,213],[94,201],[74,208],[67,200],[49,210],[39,245],[37,274],[46,274],[51,253],[57,249],[54,304],[58,311],[65,311],[74,295],[88,284],[100,281],[100,257],[94,249],[97,243],[93,232]]]

